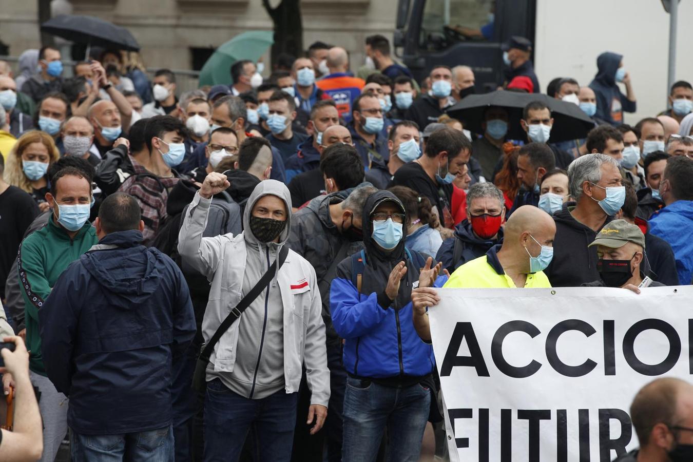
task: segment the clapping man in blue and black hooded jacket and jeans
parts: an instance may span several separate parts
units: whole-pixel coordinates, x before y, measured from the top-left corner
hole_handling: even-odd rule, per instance
[[[387,427],[387,460],[418,461],[435,358],[414,331],[411,296],[433,285],[441,265],[405,248],[405,208],[393,193],[371,194],[362,217],[365,250],[342,260],[330,290],[349,373],[342,460],[374,460]]]

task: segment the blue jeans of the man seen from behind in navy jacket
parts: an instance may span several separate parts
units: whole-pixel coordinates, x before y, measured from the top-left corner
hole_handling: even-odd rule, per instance
[[[72,433],[72,462],[173,460],[173,427],[120,435]]]

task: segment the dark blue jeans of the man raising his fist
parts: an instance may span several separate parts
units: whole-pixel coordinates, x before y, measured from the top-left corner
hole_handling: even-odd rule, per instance
[[[204,400],[204,460],[235,462],[253,427],[256,461],[288,462],[296,425],[298,393],[283,390],[252,400],[231,391],[219,379],[207,382]]]

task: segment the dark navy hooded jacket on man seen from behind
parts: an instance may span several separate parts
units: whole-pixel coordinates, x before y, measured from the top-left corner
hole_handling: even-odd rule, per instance
[[[180,269],[141,242],[139,231],[100,240],[67,267],[39,312],[46,373],[69,396],[67,423],[79,434],[173,420],[173,368],[195,316]]]

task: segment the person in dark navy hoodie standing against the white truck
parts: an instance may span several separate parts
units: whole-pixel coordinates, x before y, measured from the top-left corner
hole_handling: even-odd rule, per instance
[[[621,93],[616,85],[616,70],[623,55],[606,51],[597,57],[597,75],[590,83],[590,88],[595,91],[597,96],[596,118],[620,125],[623,123],[623,112],[635,112],[637,109],[635,101],[631,101],[626,95]]]

